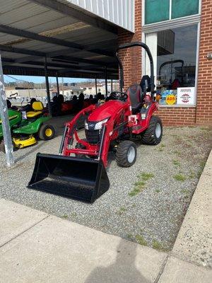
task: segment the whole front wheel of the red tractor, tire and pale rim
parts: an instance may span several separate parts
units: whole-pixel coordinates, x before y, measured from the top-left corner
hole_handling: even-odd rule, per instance
[[[116,161],[120,167],[130,167],[136,162],[137,149],[133,141],[121,141],[117,147]]]

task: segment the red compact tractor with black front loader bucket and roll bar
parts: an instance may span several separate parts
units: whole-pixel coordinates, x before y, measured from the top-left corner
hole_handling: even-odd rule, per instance
[[[140,46],[150,59],[151,77],[143,76],[140,84],[129,86],[123,92],[123,67],[118,50]],[[158,144],[163,126],[153,112],[158,110],[153,81],[153,57],[143,42],[119,46],[116,53],[120,69],[120,91],[114,91],[109,100],[90,105],[66,123],[59,155],[37,154],[29,188],[44,190],[77,200],[94,202],[110,187],[105,167],[109,151],[116,151],[117,165],[130,167],[136,162],[136,144]],[[77,123],[85,119],[86,139],[80,139]]]

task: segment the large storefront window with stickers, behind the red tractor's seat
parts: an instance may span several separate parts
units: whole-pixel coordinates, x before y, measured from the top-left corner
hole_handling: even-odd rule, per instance
[[[146,43],[153,54],[160,104],[194,105],[197,25],[146,34]]]

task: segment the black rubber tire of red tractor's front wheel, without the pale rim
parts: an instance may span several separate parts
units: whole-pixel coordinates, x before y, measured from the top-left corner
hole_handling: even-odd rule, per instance
[[[129,146],[134,146],[137,155],[136,144],[133,141],[120,142],[119,146],[117,147],[117,153],[116,153],[116,161],[119,167],[130,167],[133,166],[134,163],[136,162],[136,156],[132,163],[129,163],[129,161],[127,160],[127,151],[129,149]]]

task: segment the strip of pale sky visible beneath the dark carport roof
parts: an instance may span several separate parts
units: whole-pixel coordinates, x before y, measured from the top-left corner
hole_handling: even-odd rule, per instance
[[[14,79],[13,79],[14,78]],[[44,76],[7,76],[4,75],[4,81],[6,83],[9,83],[11,81],[16,81],[16,80],[23,80],[23,81],[33,81],[33,83],[43,83],[45,82],[45,77]],[[59,78],[59,83],[61,83],[62,78]],[[77,79],[77,78],[64,78],[64,83],[76,83],[76,82],[81,82],[81,81],[88,81],[88,79]],[[49,83],[56,83],[56,78],[49,76]]]

